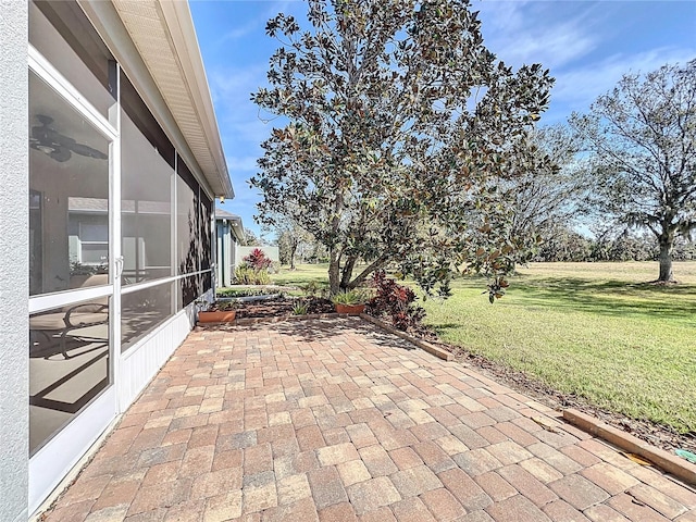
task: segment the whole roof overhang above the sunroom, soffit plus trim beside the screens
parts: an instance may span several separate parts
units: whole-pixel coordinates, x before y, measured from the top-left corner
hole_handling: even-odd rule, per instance
[[[211,196],[234,198],[188,2],[78,1]]]

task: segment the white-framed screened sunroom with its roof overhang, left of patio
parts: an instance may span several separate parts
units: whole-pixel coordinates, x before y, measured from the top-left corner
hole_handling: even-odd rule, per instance
[[[26,149],[10,151],[25,159],[10,173],[25,236],[18,268],[2,258],[3,275],[28,286],[17,298],[27,348],[2,356],[26,369],[28,415],[12,410],[26,444],[10,448],[28,450],[26,517],[192,327],[194,301],[214,287],[213,202],[234,192],[186,2],[29,1],[24,12],[28,30],[0,28],[3,46],[24,36],[28,74]],[[3,328],[3,347],[12,335]],[[0,514],[14,501],[0,500]]]

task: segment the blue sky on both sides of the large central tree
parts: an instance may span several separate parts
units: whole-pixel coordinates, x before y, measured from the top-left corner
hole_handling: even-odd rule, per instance
[[[587,111],[626,72],[696,58],[696,1],[473,0],[472,7],[481,11],[485,45],[500,60],[513,66],[539,62],[556,77],[542,124]],[[247,181],[273,124],[249,98],[265,84],[269,58],[279,46],[265,35],[266,21],[284,12],[303,26],[304,3],[191,0],[190,9],[236,192],[219,207],[258,234],[260,196]]]

